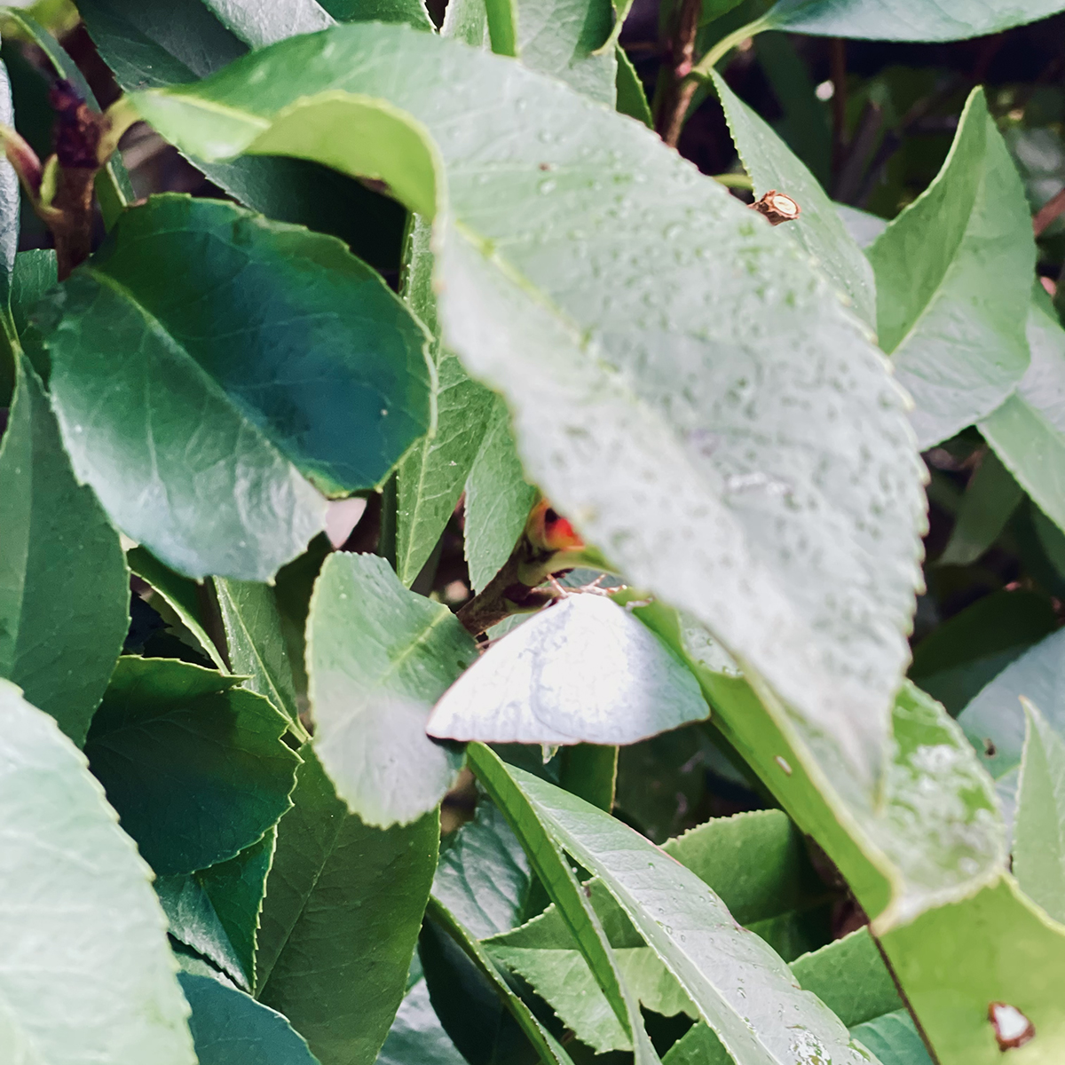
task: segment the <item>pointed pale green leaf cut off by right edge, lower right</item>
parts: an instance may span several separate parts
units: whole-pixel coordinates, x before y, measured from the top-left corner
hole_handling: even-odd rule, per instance
[[[1026,700],[1025,710],[1013,874],[1030,899],[1065,923],[1065,740],[1033,703]]]

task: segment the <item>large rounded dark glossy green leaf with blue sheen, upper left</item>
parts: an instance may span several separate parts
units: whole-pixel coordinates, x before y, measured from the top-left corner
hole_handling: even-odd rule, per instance
[[[302,474],[372,487],[430,424],[424,330],[380,277],[229,203],[127,211],[44,330],[76,474],[189,576],[272,577],[324,524]]]

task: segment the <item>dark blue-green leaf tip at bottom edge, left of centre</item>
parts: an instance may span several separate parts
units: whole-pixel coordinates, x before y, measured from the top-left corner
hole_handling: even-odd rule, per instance
[[[279,1013],[211,977],[178,980],[193,1015],[199,1065],[320,1065],[307,1041]]]

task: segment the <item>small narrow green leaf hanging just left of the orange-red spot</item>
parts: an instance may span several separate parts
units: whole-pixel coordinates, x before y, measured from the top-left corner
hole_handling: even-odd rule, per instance
[[[463,550],[470,584],[480,591],[498,573],[525,528],[537,490],[525,480],[510,411],[497,396],[465,484]]]

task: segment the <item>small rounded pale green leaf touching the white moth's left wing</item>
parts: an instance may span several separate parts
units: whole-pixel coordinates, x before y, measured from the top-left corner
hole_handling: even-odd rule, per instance
[[[307,661],[314,750],[367,824],[407,824],[455,783],[461,751],[433,742],[433,702],[476,657],[442,603],[408,591],[376,555],[330,555],[314,586]]]

